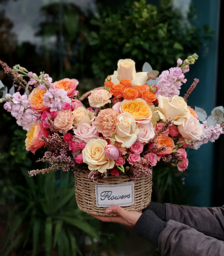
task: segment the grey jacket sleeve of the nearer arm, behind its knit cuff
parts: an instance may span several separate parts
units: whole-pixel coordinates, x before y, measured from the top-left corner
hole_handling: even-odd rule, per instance
[[[170,220],[158,237],[158,249],[161,256],[223,256],[224,242]]]

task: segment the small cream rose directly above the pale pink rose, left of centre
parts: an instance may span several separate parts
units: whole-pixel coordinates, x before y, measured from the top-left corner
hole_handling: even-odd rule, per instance
[[[95,118],[94,112],[85,109],[84,107],[78,107],[74,109],[74,126],[77,128],[80,123],[92,124]]]

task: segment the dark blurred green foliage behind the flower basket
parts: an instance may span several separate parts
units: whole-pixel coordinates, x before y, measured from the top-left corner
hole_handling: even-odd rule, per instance
[[[26,2],[20,2],[22,8],[27,8]],[[145,0],[126,0],[122,6],[119,1],[109,6],[107,1],[96,1],[95,13],[84,13],[74,3],[49,3],[43,5],[40,15],[42,20],[36,36],[42,39],[42,45],[37,50],[30,42],[18,44],[12,30],[13,21],[1,12],[0,59],[11,67],[21,64],[36,73],[45,70],[54,80],[76,78],[80,94],[102,85],[105,76],[116,70],[118,59],[134,59],[139,71],[148,61],[153,69],[161,71],[176,65],[177,58],[184,59],[197,52],[202,43],[212,38],[208,26],[200,31],[192,23],[197,15],[194,8],[186,21],[180,11],[172,8],[171,0],[161,0],[158,5]],[[12,78],[2,71],[0,80],[11,87]],[[113,256],[122,255],[124,250],[133,256],[148,251],[150,255],[158,255],[133,230],[100,223],[79,211],[72,172],[29,177],[30,169],[40,167],[35,160],[42,156],[42,149],[35,155],[25,150],[26,132],[2,105],[0,134],[0,252],[3,255],[107,253]],[[190,204],[185,175],[174,168],[156,168],[153,200]]]

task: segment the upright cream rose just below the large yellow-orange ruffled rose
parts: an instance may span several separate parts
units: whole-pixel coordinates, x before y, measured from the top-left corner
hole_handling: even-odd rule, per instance
[[[139,128],[136,125],[134,117],[129,112],[121,113],[118,116],[118,124],[115,133],[115,139],[122,143],[122,147],[131,147],[137,140]]]

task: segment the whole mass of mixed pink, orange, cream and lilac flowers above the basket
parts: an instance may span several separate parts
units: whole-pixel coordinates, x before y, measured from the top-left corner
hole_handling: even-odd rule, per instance
[[[15,84],[7,93],[0,83],[1,102],[27,131],[26,150],[35,153],[46,147],[41,160],[49,162],[49,167],[29,171],[30,176],[85,166],[94,182],[122,173],[134,180],[142,173],[149,176],[158,161],[184,171],[187,147],[198,149],[224,133],[223,107],[216,107],[207,117],[203,109],[187,105],[198,79],[184,97],[179,96],[187,81],[184,74],[196,59],[197,54],[178,59],[177,67],[159,76],[148,63],[136,72],[133,60],[121,59],[103,87],[80,97],[76,79],[53,82],[44,72],[37,76],[0,61]],[[85,98],[88,106],[82,103]]]

